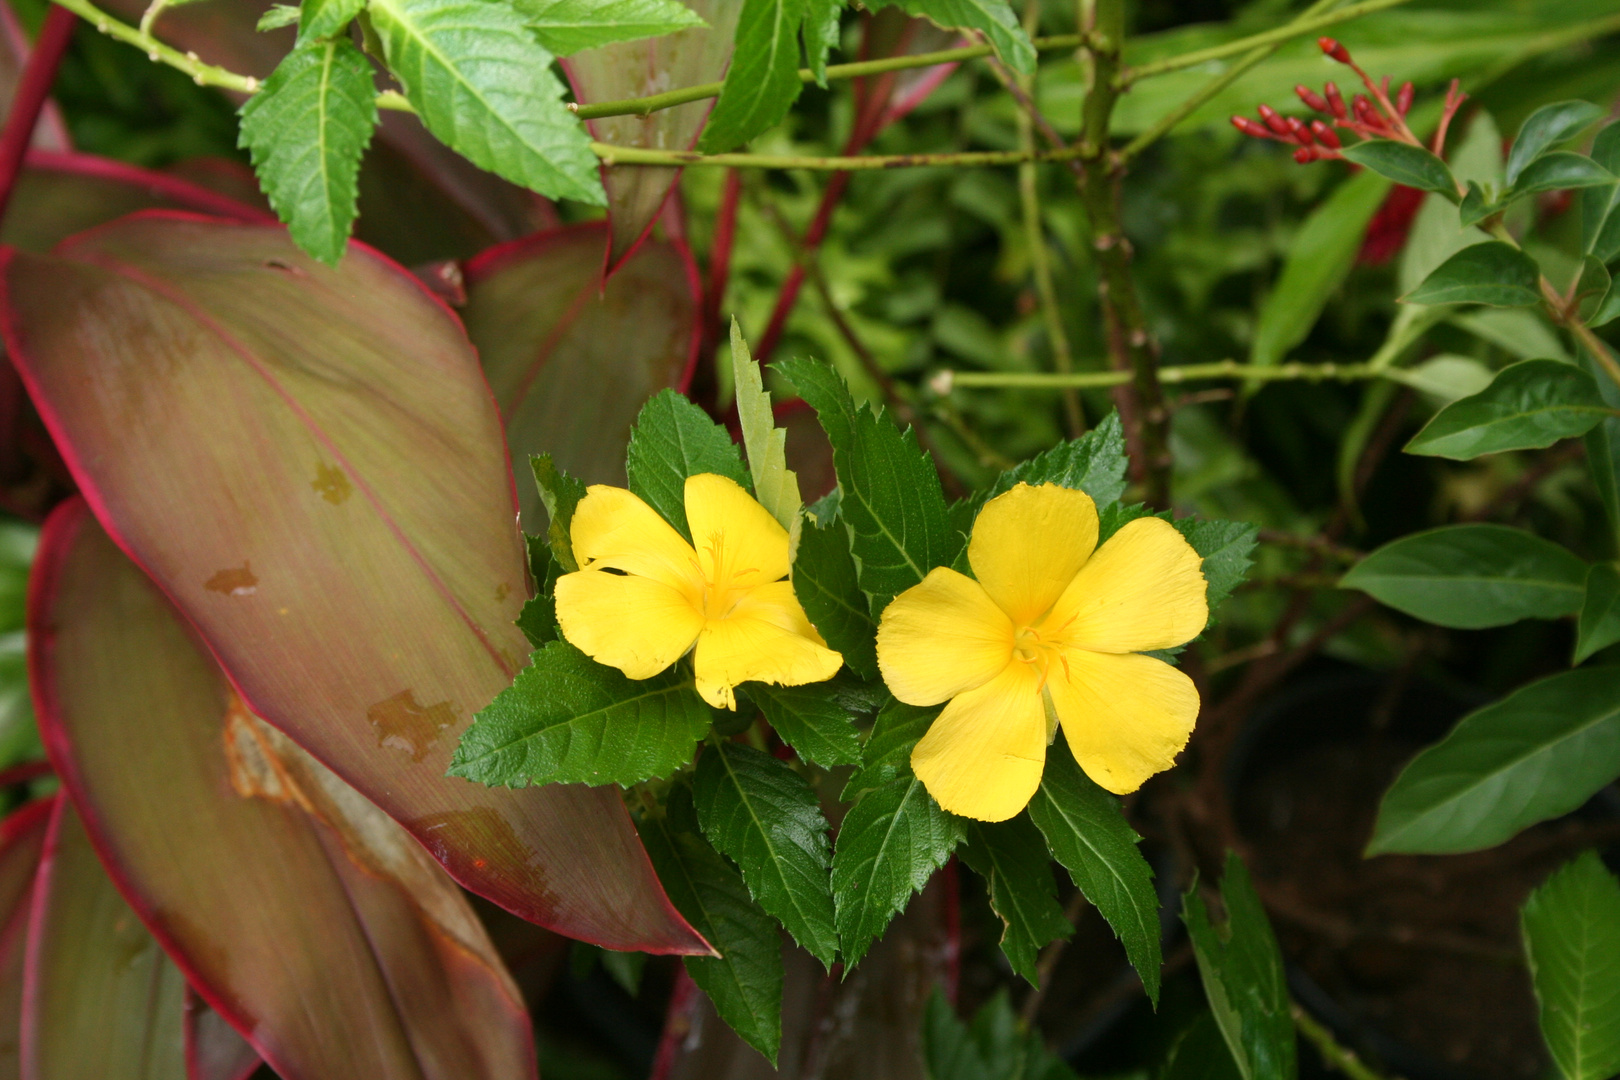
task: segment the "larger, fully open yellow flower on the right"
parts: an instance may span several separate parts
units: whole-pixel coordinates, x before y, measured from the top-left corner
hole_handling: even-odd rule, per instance
[[[1055,725],[1110,792],[1168,769],[1199,693],[1137,653],[1191,641],[1209,622],[1202,560],[1181,533],[1139,518],[1097,547],[1090,495],[1019,484],[985,504],[967,560],[977,581],[940,567],[878,625],[894,696],[949,701],[912,750],[928,793],[964,818],[1011,818],[1040,785]]]

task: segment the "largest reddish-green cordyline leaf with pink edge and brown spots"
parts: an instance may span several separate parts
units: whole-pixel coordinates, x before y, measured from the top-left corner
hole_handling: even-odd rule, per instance
[[[612,792],[442,776],[528,653],[501,423],[455,319],[376,254],[332,270],[279,228],[147,215],[58,251],[0,264],[6,348],[249,708],[491,900],[616,949],[703,949]]]

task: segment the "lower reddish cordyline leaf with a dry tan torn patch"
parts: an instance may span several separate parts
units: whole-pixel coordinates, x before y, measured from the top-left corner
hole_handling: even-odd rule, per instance
[[[449,874],[246,711],[84,502],[52,515],[36,580],[62,782],[130,905],[279,1075],[535,1075],[522,997]]]

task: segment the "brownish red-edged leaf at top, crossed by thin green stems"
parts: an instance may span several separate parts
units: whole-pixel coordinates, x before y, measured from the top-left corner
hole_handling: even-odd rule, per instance
[[[580,104],[646,97],[677,86],[718,83],[731,63],[732,39],[742,0],[684,0],[706,28],[617,42],[577,52],[562,62]],[[591,136],[614,146],[690,151],[708,120],[714,99],[687,102],[646,117],[588,120]],[[604,167],[608,220],[608,272],[617,272],[625,256],[658,219],[659,207],[680,176],[679,168]]]

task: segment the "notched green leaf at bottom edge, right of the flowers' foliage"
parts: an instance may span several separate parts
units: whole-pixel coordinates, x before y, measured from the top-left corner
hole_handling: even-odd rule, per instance
[[[1181,897],[1181,920],[1192,939],[1210,1010],[1244,1080],[1293,1080],[1299,1064],[1283,955],[1249,884],[1249,871],[1234,852],[1226,853],[1220,894],[1226,905],[1226,925],[1220,928],[1210,923],[1197,882]]]

